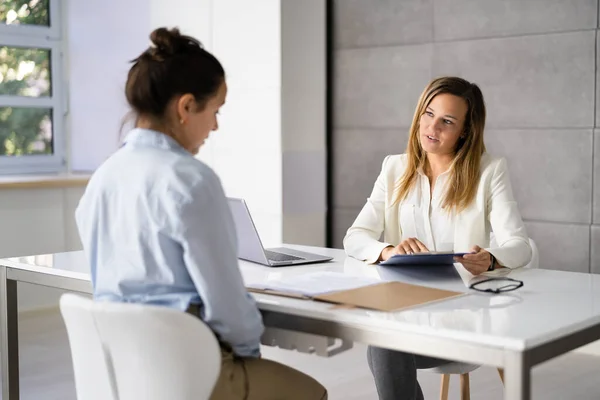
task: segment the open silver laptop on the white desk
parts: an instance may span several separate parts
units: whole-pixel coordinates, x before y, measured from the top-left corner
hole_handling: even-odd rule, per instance
[[[227,198],[238,237],[238,258],[270,267],[326,262],[333,257],[284,247],[265,249],[243,199]]]

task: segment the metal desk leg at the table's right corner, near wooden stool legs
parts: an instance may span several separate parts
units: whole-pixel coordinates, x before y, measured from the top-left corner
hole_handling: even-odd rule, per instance
[[[506,352],[504,399],[531,400],[531,366],[523,353]]]

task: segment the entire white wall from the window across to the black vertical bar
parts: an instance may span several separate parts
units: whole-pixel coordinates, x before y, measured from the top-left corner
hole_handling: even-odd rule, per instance
[[[325,244],[323,0],[67,5],[74,170],[95,169],[117,148],[128,60],[148,46],[152,29],[177,26],[200,39],[227,75],[220,129],[199,158],[227,195],[246,199],[266,244]]]

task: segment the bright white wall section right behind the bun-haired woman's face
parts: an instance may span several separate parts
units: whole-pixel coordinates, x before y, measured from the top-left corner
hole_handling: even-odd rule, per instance
[[[263,240],[281,242],[280,1],[180,0],[172,7],[154,0],[152,8],[151,29],[178,26],[223,64],[227,102],[199,158],[228,196],[246,199]]]

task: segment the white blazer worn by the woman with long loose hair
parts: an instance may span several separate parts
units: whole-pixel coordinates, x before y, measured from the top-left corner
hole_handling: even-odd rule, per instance
[[[406,199],[393,204],[394,188],[407,160],[406,154],[383,160],[371,196],[344,237],[344,249],[349,256],[375,263],[386,246],[416,237],[413,209],[420,204],[414,189]],[[497,246],[490,248],[492,232]],[[513,197],[506,160],[489,154],[481,158],[479,186],[473,202],[454,219],[454,251],[468,252],[475,245],[489,251],[508,268],[525,266],[531,260],[529,238]]]

